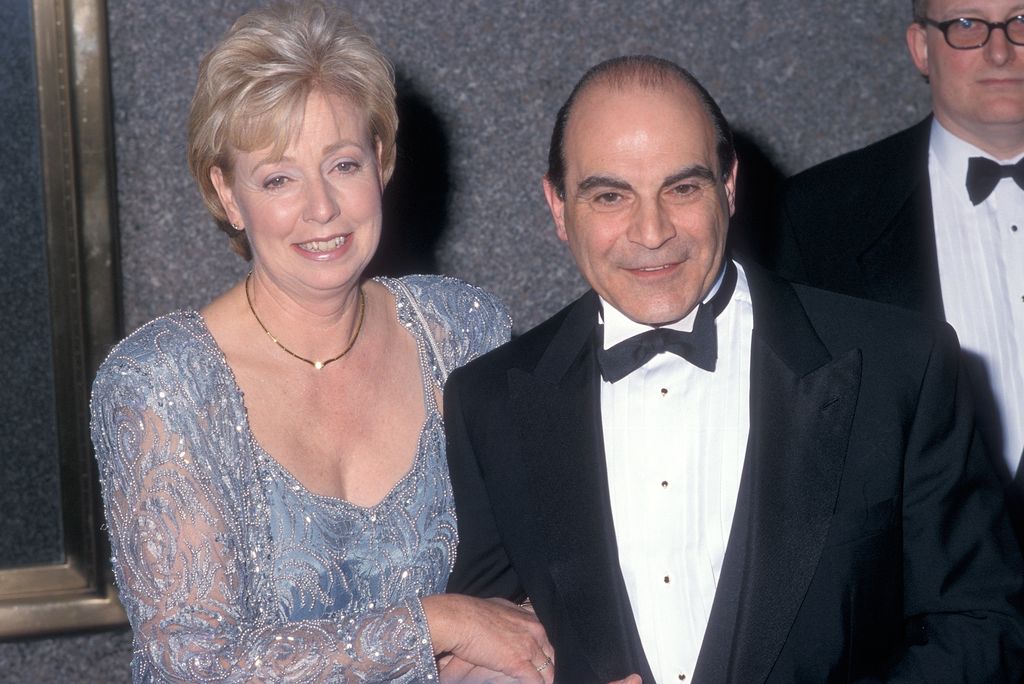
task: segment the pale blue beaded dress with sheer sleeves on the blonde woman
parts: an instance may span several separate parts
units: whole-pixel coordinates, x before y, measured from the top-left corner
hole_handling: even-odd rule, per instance
[[[436,681],[420,597],[444,591],[457,533],[435,390],[510,319],[455,279],[379,282],[416,340],[426,420],[371,508],[310,493],[262,450],[197,311],[103,362],[92,439],[135,682]]]

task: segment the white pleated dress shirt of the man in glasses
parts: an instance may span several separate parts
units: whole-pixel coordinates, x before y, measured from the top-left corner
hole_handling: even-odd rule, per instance
[[[928,174],[942,305],[969,359],[984,370],[978,378],[977,364],[970,364],[979,422],[990,444],[1002,444],[1013,475],[1024,451],[1024,190],[1004,178],[987,200],[972,205],[966,185],[971,157],[992,159],[938,121],[932,124]],[[994,161],[1012,164],[1021,157]]]

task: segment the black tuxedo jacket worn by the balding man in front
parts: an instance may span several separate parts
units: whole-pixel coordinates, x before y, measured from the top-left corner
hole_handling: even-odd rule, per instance
[[[944,324],[746,268],[751,431],[698,682],[1019,681],[1019,553]],[[449,590],[529,597],[560,682],[653,682],[618,565],[593,292],[445,388]]]

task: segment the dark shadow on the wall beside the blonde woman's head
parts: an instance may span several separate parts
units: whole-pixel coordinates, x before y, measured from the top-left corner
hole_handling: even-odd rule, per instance
[[[451,147],[427,98],[400,74],[394,175],[384,190],[384,228],[368,275],[435,273],[435,254],[447,227]]]

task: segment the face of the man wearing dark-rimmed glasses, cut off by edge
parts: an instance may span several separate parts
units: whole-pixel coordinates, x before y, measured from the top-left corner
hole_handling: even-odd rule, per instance
[[[931,0],[928,16],[944,22],[962,16],[1005,22],[1024,14],[1021,0]],[[935,116],[954,135],[1001,158],[1013,157],[1024,138],[1024,47],[992,31],[973,50],[946,44],[935,27],[912,24],[907,46],[918,70],[932,85]]]

